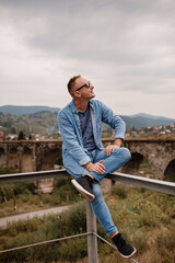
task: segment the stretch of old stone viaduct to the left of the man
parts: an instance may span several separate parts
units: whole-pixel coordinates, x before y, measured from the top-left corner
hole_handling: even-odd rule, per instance
[[[0,141],[0,167],[16,172],[47,171],[61,158],[62,140]]]

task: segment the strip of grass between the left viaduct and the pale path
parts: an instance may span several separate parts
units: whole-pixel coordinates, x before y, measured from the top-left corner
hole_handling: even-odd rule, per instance
[[[35,194],[34,182],[0,185],[0,218],[79,202],[81,197],[70,180],[70,178],[55,179],[51,194]],[[13,192],[16,210],[14,210]]]

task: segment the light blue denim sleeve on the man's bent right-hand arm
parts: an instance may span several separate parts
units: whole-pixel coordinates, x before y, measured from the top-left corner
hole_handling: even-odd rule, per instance
[[[125,139],[126,124],[109,107],[102,103],[102,122],[115,129],[115,139]]]

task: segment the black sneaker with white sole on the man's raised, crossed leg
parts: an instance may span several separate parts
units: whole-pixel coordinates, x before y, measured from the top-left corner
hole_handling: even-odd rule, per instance
[[[92,193],[91,188],[92,179],[89,175],[84,175],[78,179],[71,180],[74,187],[86,198],[93,201],[95,195]]]

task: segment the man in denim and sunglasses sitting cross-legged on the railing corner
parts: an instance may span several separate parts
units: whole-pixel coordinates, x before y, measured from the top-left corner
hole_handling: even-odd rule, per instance
[[[121,147],[126,125],[122,119],[102,102],[92,100],[94,87],[75,76],[68,82],[72,101],[58,114],[59,129],[63,139],[63,164],[75,188],[88,199],[107,236],[110,236],[120,254],[131,256],[131,247],[114,225],[104,201],[100,182],[107,173],[119,169],[130,159],[130,152]],[[114,145],[102,146],[101,123],[115,129]]]

